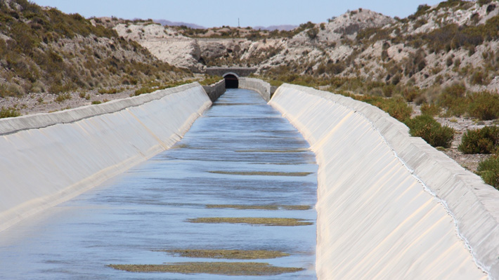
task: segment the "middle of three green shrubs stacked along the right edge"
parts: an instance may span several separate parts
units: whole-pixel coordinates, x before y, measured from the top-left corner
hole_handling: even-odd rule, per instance
[[[492,154],[499,145],[499,127],[485,126],[466,131],[458,149],[464,154]]]

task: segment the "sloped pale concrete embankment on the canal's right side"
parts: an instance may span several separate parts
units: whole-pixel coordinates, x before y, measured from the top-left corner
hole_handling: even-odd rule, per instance
[[[318,279],[499,279],[499,192],[376,107],[283,85],[316,153]]]

